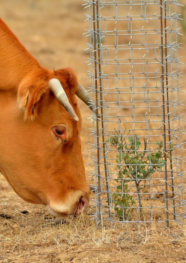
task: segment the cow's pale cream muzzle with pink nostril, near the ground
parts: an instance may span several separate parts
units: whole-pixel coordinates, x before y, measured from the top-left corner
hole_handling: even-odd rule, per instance
[[[89,192],[71,191],[64,200],[50,199],[47,209],[53,216],[78,215],[88,208],[89,199]]]

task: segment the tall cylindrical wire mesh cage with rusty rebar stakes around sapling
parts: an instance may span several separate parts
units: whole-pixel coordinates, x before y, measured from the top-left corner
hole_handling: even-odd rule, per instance
[[[181,222],[177,0],[87,0],[97,224]]]

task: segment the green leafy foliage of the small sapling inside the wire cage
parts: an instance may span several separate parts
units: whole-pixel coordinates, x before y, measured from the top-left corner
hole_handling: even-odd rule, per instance
[[[123,221],[126,218],[129,220],[129,218],[131,218],[133,205],[135,204],[135,199],[133,195],[130,194],[128,183],[134,181],[137,193],[141,195],[140,191],[144,190],[144,188],[139,187],[140,182],[149,178],[153,173],[159,171],[159,169],[164,166],[163,142],[156,142],[158,147],[152,151],[150,148],[147,150],[147,142],[144,139],[144,147],[142,149],[142,144],[136,134],[127,139],[117,131],[107,142],[110,142],[111,145],[117,149],[116,163],[118,178],[115,179],[117,182],[116,192],[112,195],[113,207],[120,220]],[[174,144],[170,144],[170,149],[173,148]],[[169,151],[172,151],[170,149]],[[142,208],[140,196],[138,200],[139,207]],[[140,211],[142,211],[142,209]]]

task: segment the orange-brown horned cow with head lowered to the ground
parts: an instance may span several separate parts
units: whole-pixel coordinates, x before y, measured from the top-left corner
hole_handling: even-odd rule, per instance
[[[42,67],[0,19],[0,172],[21,198],[53,215],[81,213],[89,203],[75,94],[88,105],[71,69]]]

